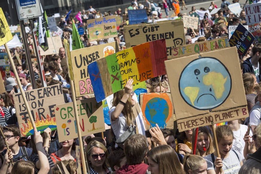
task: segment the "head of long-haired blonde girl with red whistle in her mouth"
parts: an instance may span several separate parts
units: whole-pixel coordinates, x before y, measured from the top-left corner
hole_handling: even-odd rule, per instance
[[[196,130],[192,134],[192,151],[194,149],[194,142],[196,137]],[[209,130],[206,127],[199,127],[196,155],[207,156],[214,152],[214,147],[212,144],[212,138]]]

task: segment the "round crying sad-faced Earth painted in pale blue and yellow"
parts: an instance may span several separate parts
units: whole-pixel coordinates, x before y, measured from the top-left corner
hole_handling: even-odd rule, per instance
[[[214,57],[191,61],[181,72],[178,82],[181,97],[198,110],[213,109],[224,103],[231,84],[228,69]]]

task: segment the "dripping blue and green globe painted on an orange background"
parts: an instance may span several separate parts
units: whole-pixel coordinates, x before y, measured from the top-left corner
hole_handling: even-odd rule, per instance
[[[148,101],[145,108],[146,119],[150,123],[150,127],[156,124],[163,129],[166,127],[166,120],[169,115],[169,105],[163,98],[155,97]]]

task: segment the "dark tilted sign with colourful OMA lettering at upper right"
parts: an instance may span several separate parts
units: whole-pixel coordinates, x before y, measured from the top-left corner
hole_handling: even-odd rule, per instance
[[[239,57],[242,57],[245,56],[254,39],[254,36],[239,24],[228,42],[231,47],[236,46]]]

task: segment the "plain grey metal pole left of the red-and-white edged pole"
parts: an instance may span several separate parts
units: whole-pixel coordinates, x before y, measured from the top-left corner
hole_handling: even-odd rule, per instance
[[[32,84],[33,89],[37,89],[36,81],[35,81],[35,77],[34,77],[31,54],[30,54],[29,45],[28,45],[28,42],[27,42],[27,36],[26,36],[26,32],[25,32],[25,22],[24,22],[24,20],[21,20],[19,22],[20,22],[20,26],[21,26],[21,33],[22,33],[22,37],[23,37],[23,44],[24,44],[24,48],[25,48],[25,56],[26,56],[26,60],[27,60],[27,64],[28,64],[31,84]]]

